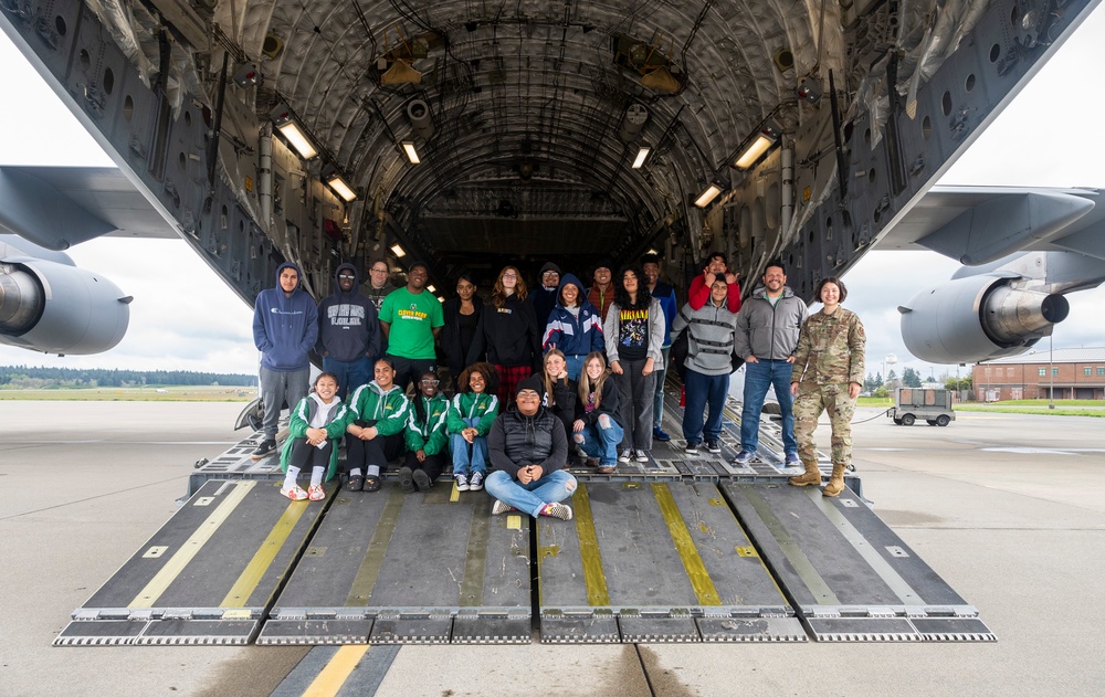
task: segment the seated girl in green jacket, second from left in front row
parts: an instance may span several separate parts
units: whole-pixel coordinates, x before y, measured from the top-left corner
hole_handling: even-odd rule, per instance
[[[403,429],[410,403],[394,383],[396,367],[388,358],[376,361],[376,379],[357,388],[346,416],[346,464],[352,492],[380,490],[380,474],[389,460],[403,454]],[[367,474],[361,474],[367,472]]]

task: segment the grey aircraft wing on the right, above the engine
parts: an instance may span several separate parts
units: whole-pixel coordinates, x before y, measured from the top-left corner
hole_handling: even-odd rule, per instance
[[[1021,251],[1105,258],[1103,198],[1102,189],[936,186],[875,249],[928,250],[971,266]]]

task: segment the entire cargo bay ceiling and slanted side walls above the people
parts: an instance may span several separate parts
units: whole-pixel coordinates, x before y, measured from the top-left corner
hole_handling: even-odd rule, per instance
[[[337,261],[397,242],[442,283],[652,246],[673,278],[723,249],[746,273],[781,255],[808,288],[1095,2],[27,0],[0,18],[252,302],[285,258],[325,292]]]

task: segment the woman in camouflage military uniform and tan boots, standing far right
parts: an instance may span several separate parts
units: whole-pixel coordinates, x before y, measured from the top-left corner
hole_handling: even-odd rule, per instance
[[[813,431],[821,412],[829,412],[832,426],[832,478],[823,489],[838,496],[844,489],[844,469],[852,460],[852,414],[863,388],[863,349],[866,337],[855,313],[840,306],[848,289],[830,276],[818,284],[824,304],[810,315],[798,336],[790,392],[794,395],[794,437],[806,474],[791,477],[794,486],[821,484]]]

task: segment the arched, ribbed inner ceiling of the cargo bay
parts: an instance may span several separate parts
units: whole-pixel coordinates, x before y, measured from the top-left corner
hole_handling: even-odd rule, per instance
[[[934,3],[912,4],[919,33]],[[448,261],[639,251],[737,175],[765,118],[796,125],[803,78],[854,89],[845,66],[887,50],[895,12],[863,28],[833,1],[312,0],[222,1],[212,19],[264,76],[257,114],[290,106],[368,220]]]

